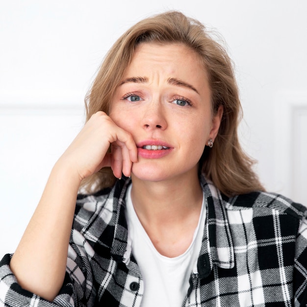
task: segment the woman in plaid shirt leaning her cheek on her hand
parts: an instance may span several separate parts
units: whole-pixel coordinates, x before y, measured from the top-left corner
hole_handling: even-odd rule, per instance
[[[230,59],[199,22],[132,26],[1,261],[1,305],[307,304],[306,208],[264,191],[239,114]]]

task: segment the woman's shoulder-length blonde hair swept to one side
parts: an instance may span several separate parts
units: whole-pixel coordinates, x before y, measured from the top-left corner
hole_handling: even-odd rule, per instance
[[[211,89],[213,113],[222,105],[224,113],[213,148],[205,147],[200,172],[225,195],[264,190],[252,169],[255,163],[240,147],[237,135],[241,104],[232,62],[225,48],[215,41],[205,26],[178,11],[144,19],[124,33],[108,51],[86,97],[86,120],[98,111],[109,112],[116,87],[141,43],[181,43],[202,60]],[[111,186],[115,177],[108,168],[82,182],[83,188],[96,191]]]

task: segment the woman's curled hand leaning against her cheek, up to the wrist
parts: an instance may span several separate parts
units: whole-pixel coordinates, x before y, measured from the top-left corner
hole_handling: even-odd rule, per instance
[[[110,145],[111,153],[108,153]],[[110,166],[117,178],[122,173],[128,177],[133,162],[137,162],[137,148],[131,134],[102,111],[89,119],[58,161],[69,167],[79,180],[105,166]]]

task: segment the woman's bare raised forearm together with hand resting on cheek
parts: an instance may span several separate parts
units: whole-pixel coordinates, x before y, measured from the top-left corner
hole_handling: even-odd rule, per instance
[[[113,146],[112,153],[107,153]],[[20,285],[47,300],[60,290],[77,192],[82,179],[111,166],[130,175],[137,148],[130,133],[103,112],[94,114],[51,171],[42,198],[11,260]]]

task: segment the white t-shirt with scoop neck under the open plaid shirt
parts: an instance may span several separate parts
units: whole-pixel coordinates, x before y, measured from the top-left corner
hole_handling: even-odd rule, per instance
[[[135,257],[144,280],[142,307],[181,307],[189,288],[191,272],[197,272],[197,259],[201,251],[205,227],[204,196],[198,225],[192,243],[177,257],[162,256],[139,221],[132,201],[131,186],[126,196],[128,242],[132,242]]]

